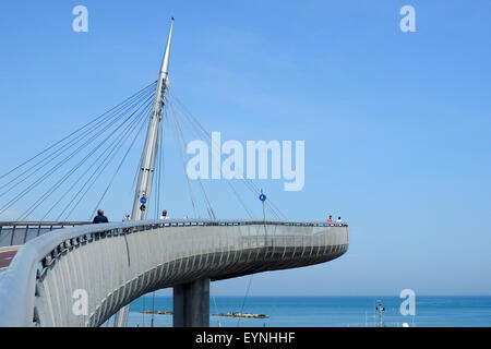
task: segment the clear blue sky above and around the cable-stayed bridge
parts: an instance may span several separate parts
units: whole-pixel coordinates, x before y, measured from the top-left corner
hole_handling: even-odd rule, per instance
[[[88,33],[72,31],[77,4]],[[399,29],[405,4],[416,33]],[[292,219],[350,225],[346,255],[256,275],[252,294],[491,294],[490,13],[484,0],[9,2],[0,173],[154,81],[173,15],[179,98],[225,140],[306,141],[302,191],[260,185]],[[166,178],[170,212],[181,174]],[[111,195],[118,220],[132,193]]]

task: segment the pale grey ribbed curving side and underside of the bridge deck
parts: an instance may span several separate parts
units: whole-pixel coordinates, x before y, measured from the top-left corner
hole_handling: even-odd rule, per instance
[[[65,228],[19,251],[0,281],[0,326],[99,326],[154,290],[327,262],[348,244],[347,226],[322,222],[166,220]],[[87,292],[86,314],[73,311],[76,290]]]

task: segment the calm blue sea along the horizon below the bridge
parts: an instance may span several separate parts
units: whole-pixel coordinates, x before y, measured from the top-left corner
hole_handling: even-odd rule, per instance
[[[375,301],[385,306],[386,326],[412,324],[411,316],[399,313],[398,297],[217,297],[209,312],[244,312],[266,314],[270,318],[235,318],[211,316],[211,326],[374,326]],[[243,309],[242,309],[242,304]],[[129,326],[151,326],[152,296],[142,297],[131,304]],[[156,297],[155,310],[172,310],[171,297]],[[154,315],[155,326],[171,326],[171,315]],[[487,297],[417,297],[415,325],[423,326],[491,326],[491,296]]]

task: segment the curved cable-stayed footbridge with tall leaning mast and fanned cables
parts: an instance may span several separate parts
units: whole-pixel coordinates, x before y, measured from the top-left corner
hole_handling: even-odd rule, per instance
[[[208,326],[211,280],[307,266],[346,252],[345,224],[290,221],[249,177],[232,177],[220,190],[215,184],[221,181],[188,174],[189,136],[209,142],[212,164],[241,165],[235,155],[223,161],[221,145],[170,89],[172,27],[173,20],[157,81],[0,176],[0,217],[9,220],[0,222],[0,325],[99,326],[116,314],[115,326],[125,326],[132,300],[173,287],[173,325]],[[173,129],[179,156],[166,152],[171,147],[164,146],[164,123]],[[143,140],[139,166],[128,167]],[[259,158],[267,160],[267,147]],[[166,166],[172,159],[181,164]],[[286,163],[291,167],[291,159],[284,168]],[[273,164],[279,166],[272,160],[272,172]],[[181,166],[184,176],[177,178]],[[125,180],[115,191],[120,177]],[[134,193],[127,200],[124,188]],[[228,212],[231,198],[249,220],[217,219],[240,217]],[[129,213],[124,202],[131,222],[80,221],[95,212],[96,222],[108,221],[101,207],[111,218]],[[164,204],[172,217],[194,219],[148,220],[160,212],[167,217]]]

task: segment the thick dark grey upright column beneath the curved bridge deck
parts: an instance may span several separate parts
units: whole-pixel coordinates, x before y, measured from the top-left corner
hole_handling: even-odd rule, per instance
[[[209,327],[209,279],[173,288],[173,327]]]

